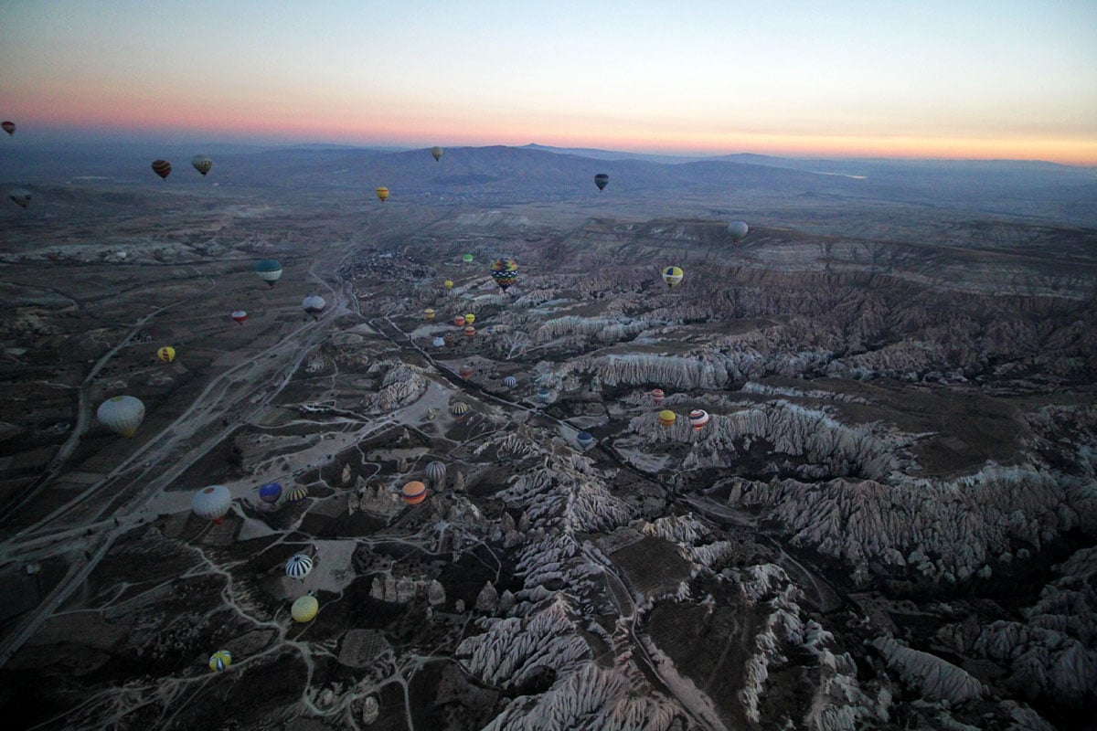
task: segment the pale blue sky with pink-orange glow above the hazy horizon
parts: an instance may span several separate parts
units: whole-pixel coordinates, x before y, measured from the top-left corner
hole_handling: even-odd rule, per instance
[[[3,0],[27,139],[1097,164],[1097,0]]]

